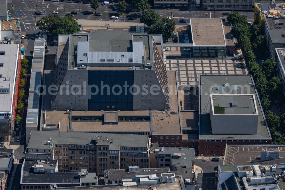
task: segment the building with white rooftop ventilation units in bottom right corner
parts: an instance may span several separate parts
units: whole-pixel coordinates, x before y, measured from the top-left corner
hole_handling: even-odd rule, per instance
[[[219,165],[217,189],[285,189],[284,171],[275,165]]]

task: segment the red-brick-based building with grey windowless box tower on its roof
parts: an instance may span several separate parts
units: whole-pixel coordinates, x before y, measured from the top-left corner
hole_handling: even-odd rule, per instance
[[[200,155],[224,155],[226,144],[272,143],[251,75],[200,75],[199,83]]]

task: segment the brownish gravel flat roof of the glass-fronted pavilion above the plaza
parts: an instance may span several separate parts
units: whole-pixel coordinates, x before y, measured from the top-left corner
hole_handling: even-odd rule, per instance
[[[221,19],[190,19],[194,46],[225,46]]]

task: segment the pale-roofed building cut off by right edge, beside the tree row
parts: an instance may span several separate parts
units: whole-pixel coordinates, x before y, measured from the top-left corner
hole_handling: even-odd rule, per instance
[[[277,73],[280,76],[282,81],[282,93],[285,96],[285,48],[277,48],[275,49],[275,60],[277,62]]]

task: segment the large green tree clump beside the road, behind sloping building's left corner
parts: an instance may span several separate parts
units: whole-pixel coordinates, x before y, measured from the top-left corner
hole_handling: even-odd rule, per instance
[[[59,17],[56,14],[42,17],[36,25],[55,38],[58,38],[58,34],[72,34],[79,30],[78,23],[72,17]]]

